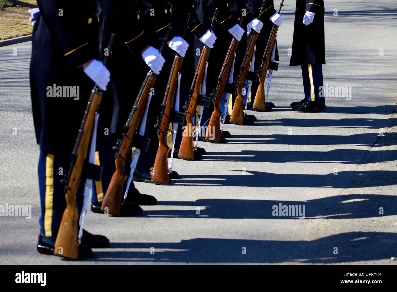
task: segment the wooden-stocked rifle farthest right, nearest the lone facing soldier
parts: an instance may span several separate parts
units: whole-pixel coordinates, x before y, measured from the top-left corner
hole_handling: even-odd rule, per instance
[[[278,10],[278,14],[281,12],[281,7],[283,7],[284,0],[281,1],[280,9]],[[276,39],[278,31],[278,26],[273,25],[272,31],[270,32],[269,40],[266,45],[265,52],[262,57],[262,64],[259,66],[257,73],[260,75],[259,77],[259,85],[256,91],[255,100],[253,107],[258,110],[266,110],[266,101],[265,101],[265,76],[268,71],[268,67],[270,65],[270,57],[272,56],[272,48],[274,46],[274,41]],[[273,69],[273,68],[271,68]]]

